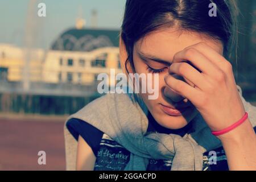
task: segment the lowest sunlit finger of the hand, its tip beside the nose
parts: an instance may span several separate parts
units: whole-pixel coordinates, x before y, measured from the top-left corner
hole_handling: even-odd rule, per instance
[[[196,98],[199,98],[201,91],[193,88],[184,81],[177,80],[171,75],[165,76],[164,81],[166,82],[167,86],[170,86],[171,89],[174,89],[175,92],[187,98],[191,102],[196,102]]]

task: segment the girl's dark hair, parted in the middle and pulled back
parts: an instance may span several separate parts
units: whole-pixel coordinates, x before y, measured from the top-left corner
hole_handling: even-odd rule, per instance
[[[209,4],[217,6],[217,16],[209,16]],[[236,42],[237,6],[233,0],[127,0],[121,27],[121,38],[126,46],[127,60],[134,70],[133,47],[139,39],[160,28],[200,32],[220,40],[224,56]],[[235,46],[236,47],[236,46]]]

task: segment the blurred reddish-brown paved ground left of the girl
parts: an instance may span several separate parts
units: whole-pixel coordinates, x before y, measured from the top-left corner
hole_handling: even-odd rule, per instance
[[[0,170],[64,170],[64,119],[0,117]],[[46,165],[38,164],[46,152]]]

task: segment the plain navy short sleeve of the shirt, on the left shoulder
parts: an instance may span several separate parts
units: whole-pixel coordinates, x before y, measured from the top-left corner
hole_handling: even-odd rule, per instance
[[[79,135],[92,148],[95,156],[100,148],[103,132],[81,119],[71,118],[66,123],[67,129],[78,140]]]

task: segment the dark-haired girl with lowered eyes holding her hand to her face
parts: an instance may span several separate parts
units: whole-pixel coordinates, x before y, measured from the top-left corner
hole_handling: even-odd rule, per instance
[[[127,0],[121,66],[159,74],[159,97],[106,94],[71,115],[67,169],[255,170],[256,108],[227,60],[234,9],[231,0]]]

